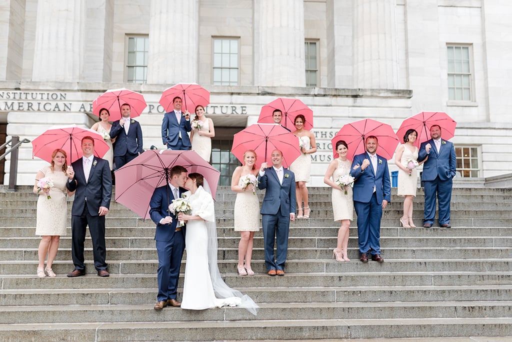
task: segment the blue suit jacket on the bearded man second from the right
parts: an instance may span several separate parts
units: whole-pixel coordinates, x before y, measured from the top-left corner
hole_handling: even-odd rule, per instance
[[[370,165],[361,172],[362,161],[370,160]],[[359,165],[354,170],[354,166]],[[353,199],[357,202],[368,203],[372,199],[373,186],[375,186],[375,195],[377,203],[382,204],[382,200],[391,202],[391,180],[389,177],[388,161],[377,155],[377,174],[373,172],[370,155],[365,152],[357,155],[352,161],[350,175],[355,178],[353,188]]]

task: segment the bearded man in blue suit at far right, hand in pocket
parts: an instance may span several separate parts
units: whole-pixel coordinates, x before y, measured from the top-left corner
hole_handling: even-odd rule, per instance
[[[439,204],[439,226],[450,228],[450,202],[453,178],[457,170],[455,147],[450,141],[441,139],[441,127],[430,127],[432,139],[419,148],[418,161],[428,157],[423,164],[421,180],[425,187],[425,210],[423,227],[431,228],[436,217],[436,197]]]

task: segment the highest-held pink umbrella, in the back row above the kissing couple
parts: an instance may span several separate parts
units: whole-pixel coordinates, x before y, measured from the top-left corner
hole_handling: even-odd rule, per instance
[[[163,91],[158,101],[166,112],[174,110],[173,99],[179,96],[183,101],[183,111],[194,113],[197,105],[207,106],[210,103],[210,92],[196,83],[178,83]]]

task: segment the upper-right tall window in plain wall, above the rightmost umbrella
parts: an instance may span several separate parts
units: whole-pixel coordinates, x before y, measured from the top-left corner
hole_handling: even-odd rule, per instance
[[[447,46],[449,100],[472,100],[470,53],[470,46]]]

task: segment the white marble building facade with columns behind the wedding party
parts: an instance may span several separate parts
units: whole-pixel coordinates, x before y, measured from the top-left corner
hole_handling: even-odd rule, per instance
[[[343,124],[369,117],[396,130],[421,111],[458,122],[452,141],[464,177],[504,175],[511,15],[504,0],[0,0],[0,123],[7,139],[90,127],[92,101],[128,88],[148,103],[136,118],[144,148],[163,147],[161,92],[196,82],[211,92],[218,139],[255,123],[277,97],[309,105],[318,148],[310,185],[323,185]],[[147,43],[135,74],[131,38]],[[223,70],[219,41],[236,41]],[[32,184],[46,162],[32,159],[30,144],[19,158],[17,184]]]

